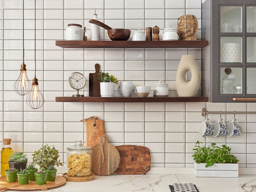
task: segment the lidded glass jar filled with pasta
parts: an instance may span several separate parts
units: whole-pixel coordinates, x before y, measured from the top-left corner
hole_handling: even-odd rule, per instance
[[[70,177],[88,177],[92,174],[92,152],[91,148],[76,141],[76,145],[67,149],[67,167]]]

